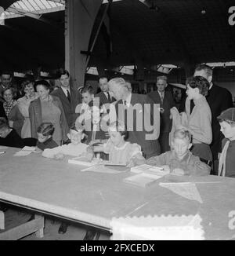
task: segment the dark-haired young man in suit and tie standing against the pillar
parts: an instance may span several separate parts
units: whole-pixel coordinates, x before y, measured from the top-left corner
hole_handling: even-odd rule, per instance
[[[63,111],[66,115],[68,126],[72,126],[78,117],[75,108],[81,104],[81,95],[70,85],[70,74],[67,70],[61,68],[58,72],[60,88],[52,91],[52,95],[59,97],[63,105]]]

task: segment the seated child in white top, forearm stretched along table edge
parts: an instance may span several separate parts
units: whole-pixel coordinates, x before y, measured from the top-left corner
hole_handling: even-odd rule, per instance
[[[81,143],[81,139],[84,137],[82,126],[71,126],[67,137],[71,140],[71,143],[63,144],[56,148],[45,148],[42,152],[42,156],[53,159],[63,159],[64,155],[78,156],[86,152],[88,145]]]

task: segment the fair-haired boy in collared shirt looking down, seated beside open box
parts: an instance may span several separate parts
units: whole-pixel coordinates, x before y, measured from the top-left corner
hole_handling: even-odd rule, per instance
[[[204,176],[210,174],[210,167],[190,152],[192,144],[190,132],[186,129],[175,130],[172,138],[172,151],[153,156],[146,164],[164,166],[172,174]]]

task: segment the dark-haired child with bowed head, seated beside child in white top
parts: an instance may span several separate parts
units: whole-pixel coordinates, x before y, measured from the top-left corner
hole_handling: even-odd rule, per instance
[[[42,123],[38,126],[38,142],[35,151],[41,152],[45,148],[56,148],[58,144],[52,140],[52,134],[54,133],[55,127],[52,123]]]

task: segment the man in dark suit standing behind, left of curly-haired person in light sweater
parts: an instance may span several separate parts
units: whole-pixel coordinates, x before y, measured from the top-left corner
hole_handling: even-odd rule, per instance
[[[148,95],[154,103],[160,104],[161,108],[161,126],[159,143],[161,146],[161,153],[170,150],[169,133],[172,130],[172,119],[170,119],[170,109],[175,106],[172,93],[165,90],[168,86],[167,77],[157,76],[157,90],[150,92]]]

